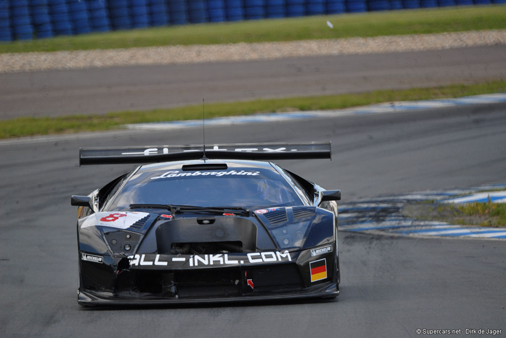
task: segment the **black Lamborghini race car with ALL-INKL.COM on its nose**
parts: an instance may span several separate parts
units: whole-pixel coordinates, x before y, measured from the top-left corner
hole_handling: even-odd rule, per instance
[[[259,161],[330,156],[330,142],[81,148],[80,164],[153,164],[72,196],[78,303],[338,296],[341,191]]]

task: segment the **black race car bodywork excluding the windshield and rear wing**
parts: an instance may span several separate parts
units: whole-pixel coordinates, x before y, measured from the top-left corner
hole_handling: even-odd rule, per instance
[[[274,168],[283,177],[290,174],[269,163],[229,162],[241,168]],[[170,165],[172,169],[184,162]],[[308,197],[293,206],[224,212],[167,207],[164,212],[158,205],[152,210],[141,204],[136,205],[141,211],[107,210],[108,201],[121,197],[121,187],[136,174],[139,171],[107,184],[106,191],[94,191],[89,201],[73,199],[79,203],[79,304],[339,295],[337,207],[321,187],[296,175],[284,178],[293,185],[291,180],[298,180],[298,194],[313,187],[313,196],[306,193]],[[164,178],[154,178],[159,177]]]

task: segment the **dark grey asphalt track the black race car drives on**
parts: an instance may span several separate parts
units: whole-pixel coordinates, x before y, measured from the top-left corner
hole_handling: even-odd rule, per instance
[[[331,140],[333,160],[279,161],[362,197],[504,182],[506,105],[206,128],[206,142]],[[76,208],[130,165],[78,167],[79,147],[199,143],[202,130],[0,142],[0,336],[415,337],[506,330],[506,242],[340,232],[333,301],[80,307]],[[465,335],[465,334],[462,334]]]

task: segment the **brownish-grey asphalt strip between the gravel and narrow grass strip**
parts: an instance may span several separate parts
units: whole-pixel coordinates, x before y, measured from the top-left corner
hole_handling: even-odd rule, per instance
[[[506,45],[0,74],[0,119],[430,87],[506,78]]]

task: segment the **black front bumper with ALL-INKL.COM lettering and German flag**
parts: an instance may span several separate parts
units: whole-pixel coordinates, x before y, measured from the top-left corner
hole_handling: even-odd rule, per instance
[[[207,265],[200,263],[204,257],[172,255],[141,255],[130,264],[125,263],[128,260],[124,257],[104,256],[103,263],[81,260],[78,303],[213,303],[339,295],[333,250],[313,254],[307,250],[291,256],[279,253],[280,259],[272,262],[277,256],[278,253],[215,255],[213,259],[206,258]],[[259,257],[264,261],[260,262]],[[214,265],[210,265],[212,262]]]

